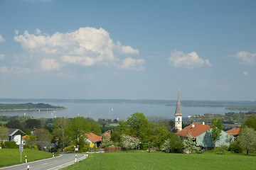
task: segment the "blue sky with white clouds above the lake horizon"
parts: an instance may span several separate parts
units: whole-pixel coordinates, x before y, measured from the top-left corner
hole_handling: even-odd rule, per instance
[[[256,101],[255,8],[0,0],[0,98]]]

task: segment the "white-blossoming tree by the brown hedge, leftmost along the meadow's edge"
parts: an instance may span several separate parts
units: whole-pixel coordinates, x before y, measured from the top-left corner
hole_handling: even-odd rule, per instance
[[[127,149],[127,152],[128,152],[128,149],[130,150],[130,149],[135,149],[135,148],[139,147],[139,142],[140,142],[139,139],[136,139],[129,135],[123,134],[122,138],[121,138],[121,145],[122,145],[122,147]]]

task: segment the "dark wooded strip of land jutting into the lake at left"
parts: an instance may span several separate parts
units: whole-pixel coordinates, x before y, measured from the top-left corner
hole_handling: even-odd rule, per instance
[[[45,103],[0,103],[0,111],[37,111],[65,109],[63,106],[52,106]]]

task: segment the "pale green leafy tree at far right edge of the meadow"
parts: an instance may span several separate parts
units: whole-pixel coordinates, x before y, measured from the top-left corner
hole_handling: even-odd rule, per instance
[[[238,142],[246,150],[246,154],[256,148],[256,131],[252,128],[242,128],[242,132],[238,136]]]

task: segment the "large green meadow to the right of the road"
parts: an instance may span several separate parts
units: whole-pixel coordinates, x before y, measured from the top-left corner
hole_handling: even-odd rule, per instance
[[[68,169],[255,169],[256,156],[134,151],[92,154]]]

